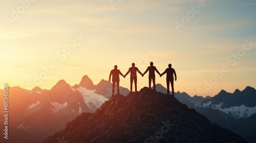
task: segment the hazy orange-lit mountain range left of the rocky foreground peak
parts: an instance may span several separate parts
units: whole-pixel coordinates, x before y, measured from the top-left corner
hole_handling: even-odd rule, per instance
[[[120,93],[126,95],[129,92],[128,89],[120,87]],[[3,95],[4,91],[0,90],[0,94]],[[101,80],[94,85],[88,76],[84,76],[78,85],[70,86],[65,80],[60,80],[50,90],[35,87],[29,91],[20,87],[9,87],[9,95],[9,123],[17,128],[12,132],[25,131],[35,136],[36,142],[42,142],[49,135],[65,128],[68,122],[82,112],[93,113],[109,100],[112,83]],[[1,103],[4,102],[3,99],[0,98]],[[1,106],[0,112],[3,110]],[[0,124],[3,125],[1,119],[2,117]],[[19,141],[30,142],[27,139],[20,138]]]

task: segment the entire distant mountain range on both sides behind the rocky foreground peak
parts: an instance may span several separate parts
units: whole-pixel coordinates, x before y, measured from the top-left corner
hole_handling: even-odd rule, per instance
[[[156,89],[166,93],[166,88],[160,84],[156,85]],[[3,92],[0,89],[0,94]],[[112,83],[101,80],[94,85],[88,76],[83,76],[80,83],[74,86],[60,80],[50,90],[35,87],[29,91],[10,87],[9,92],[9,122],[13,134],[22,131],[33,136],[32,142],[42,142],[46,137],[64,129],[68,122],[81,113],[93,113],[108,101],[112,95]],[[129,92],[129,89],[120,87],[120,93],[124,96]],[[212,123],[238,133],[248,142],[254,142],[256,139],[255,97],[256,91],[252,87],[246,87],[243,91],[237,89],[234,93],[222,90],[212,98],[190,97],[187,93],[179,91],[175,93],[178,101],[196,109]],[[0,102],[3,103],[3,98],[0,98]],[[0,112],[3,110],[3,107],[0,107]],[[2,122],[3,117],[0,118],[0,125],[3,125]],[[17,130],[14,130],[15,128]],[[0,133],[3,133],[3,130]],[[31,142],[26,137],[20,137],[19,141]]]

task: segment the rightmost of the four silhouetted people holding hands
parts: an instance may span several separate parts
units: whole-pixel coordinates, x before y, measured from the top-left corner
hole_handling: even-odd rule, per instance
[[[172,92],[174,96],[174,76],[175,81],[177,80],[176,72],[174,68],[172,68],[172,64],[168,65],[169,68],[166,68],[165,71],[160,75],[161,77],[166,73],[166,84],[167,84],[167,94],[169,95],[169,84],[172,85]]]

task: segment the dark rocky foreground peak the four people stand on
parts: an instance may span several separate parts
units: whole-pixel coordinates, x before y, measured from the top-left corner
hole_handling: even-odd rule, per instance
[[[212,124],[175,97],[147,87],[110,98],[94,113],[82,113],[50,142],[246,142]]]

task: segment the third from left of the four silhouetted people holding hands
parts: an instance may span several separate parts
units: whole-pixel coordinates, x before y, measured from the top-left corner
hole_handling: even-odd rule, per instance
[[[153,62],[150,62],[150,66],[147,67],[146,71],[143,73],[142,77],[147,73],[147,71],[150,71],[148,74],[148,88],[151,88],[151,81],[153,81],[153,86],[154,86],[154,90],[156,90],[156,76],[155,76],[155,71],[157,72],[157,74],[160,73],[157,70],[157,68],[155,66],[153,66]]]

